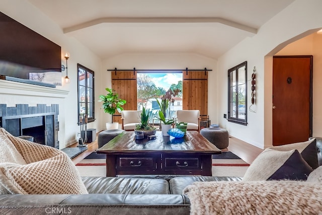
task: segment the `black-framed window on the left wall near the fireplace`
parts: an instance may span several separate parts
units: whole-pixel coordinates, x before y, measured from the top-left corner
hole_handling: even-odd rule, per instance
[[[94,71],[77,64],[78,70],[78,124],[81,115],[87,114],[88,122],[94,118]]]

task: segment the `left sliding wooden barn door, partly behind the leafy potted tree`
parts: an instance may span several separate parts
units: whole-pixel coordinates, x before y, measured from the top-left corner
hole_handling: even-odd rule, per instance
[[[112,88],[126,101],[124,110],[137,110],[136,71],[112,71]],[[113,115],[113,122],[122,123],[121,113]]]

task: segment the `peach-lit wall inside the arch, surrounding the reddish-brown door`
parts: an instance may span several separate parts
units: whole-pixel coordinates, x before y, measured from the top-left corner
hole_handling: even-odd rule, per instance
[[[273,99],[273,56],[274,55],[313,55],[313,136],[322,136],[322,98],[319,98],[318,92],[322,90],[319,84],[322,82],[322,34],[316,32],[321,28],[310,29],[293,38],[279,44],[264,57],[264,76],[265,76],[265,105],[264,105],[264,148],[272,146],[272,103]],[[299,122],[300,126],[300,122]]]

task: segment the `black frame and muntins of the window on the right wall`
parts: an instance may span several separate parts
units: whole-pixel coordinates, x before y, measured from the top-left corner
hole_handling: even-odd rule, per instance
[[[238,69],[243,68],[245,66],[245,77],[244,78],[244,83],[241,82],[239,84],[239,80],[243,80],[243,78],[239,77],[239,72]],[[235,72],[235,74],[233,74],[233,72]],[[235,76],[235,85],[233,85],[233,78],[231,77],[231,75]],[[243,89],[243,85],[245,85],[245,89],[244,89],[244,96],[245,97],[245,101],[239,101],[239,89]],[[240,88],[241,87],[241,88]],[[227,120],[229,122],[233,122],[233,123],[237,123],[237,124],[241,124],[241,125],[246,125],[247,126],[247,61],[242,62],[230,69],[228,69],[228,117]],[[233,93],[235,92],[234,98],[233,98]],[[231,104],[235,104],[234,106]],[[239,104],[240,103],[244,103],[244,115],[243,114],[239,114]],[[243,105],[243,104],[241,104]],[[235,110],[235,114],[233,115],[233,113],[231,114],[231,110],[233,111],[233,109]],[[241,116],[245,116],[245,117],[241,117]]]

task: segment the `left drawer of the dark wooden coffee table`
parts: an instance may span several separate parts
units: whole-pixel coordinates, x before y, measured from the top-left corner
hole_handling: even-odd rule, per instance
[[[117,166],[120,168],[153,168],[153,158],[144,157],[120,157],[117,161]]]

